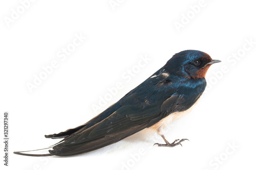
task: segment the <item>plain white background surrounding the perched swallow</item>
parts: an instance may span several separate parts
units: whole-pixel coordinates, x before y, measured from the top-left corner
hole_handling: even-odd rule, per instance
[[[22,11],[20,1],[1,1],[0,112],[1,120],[5,111],[10,118],[9,166],[5,168],[254,169],[255,4],[249,0],[205,0],[195,13],[190,6],[200,1],[114,2],[118,6],[113,9],[109,0],[38,0]],[[21,14],[7,23],[17,8]],[[188,20],[184,19],[187,14]],[[177,22],[184,23],[183,27],[177,29]],[[87,39],[62,61],[58,53],[73,42],[75,34]],[[210,86],[199,104],[165,132],[169,141],[188,138],[183,147],[152,147],[163,140],[141,132],[73,157],[38,158],[12,153],[54,144],[57,139],[44,135],[86,123],[175,53],[190,49],[222,62],[208,70]],[[122,75],[137,67],[140,56],[151,60],[131,80],[124,79]],[[33,83],[34,75],[39,76],[42,67],[54,60],[58,67],[30,92],[27,83]],[[95,112],[92,106],[99,105],[100,97],[117,82],[123,88]],[[1,168],[3,147],[1,142]]]

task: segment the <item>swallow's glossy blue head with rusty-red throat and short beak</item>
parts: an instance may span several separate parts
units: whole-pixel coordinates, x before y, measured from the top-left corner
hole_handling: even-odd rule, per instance
[[[201,51],[186,50],[175,54],[166,64],[165,69],[178,76],[190,79],[205,78],[211,64],[221,62],[212,60],[211,57]]]

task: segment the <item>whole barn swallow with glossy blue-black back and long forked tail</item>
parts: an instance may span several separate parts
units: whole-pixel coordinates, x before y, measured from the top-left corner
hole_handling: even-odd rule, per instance
[[[65,132],[45,135],[46,138],[63,138],[52,145],[48,154],[14,154],[72,156],[103,148],[147,128],[156,130],[165,141],[155,143],[159,147],[179,145],[187,139],[169,143],[161,130],[167,119],[183,116],[198,101],[206,87],[208,68],[218,62],[221,61],[212,60],[201,51],[177,53],[151,77],[89,122]]]

